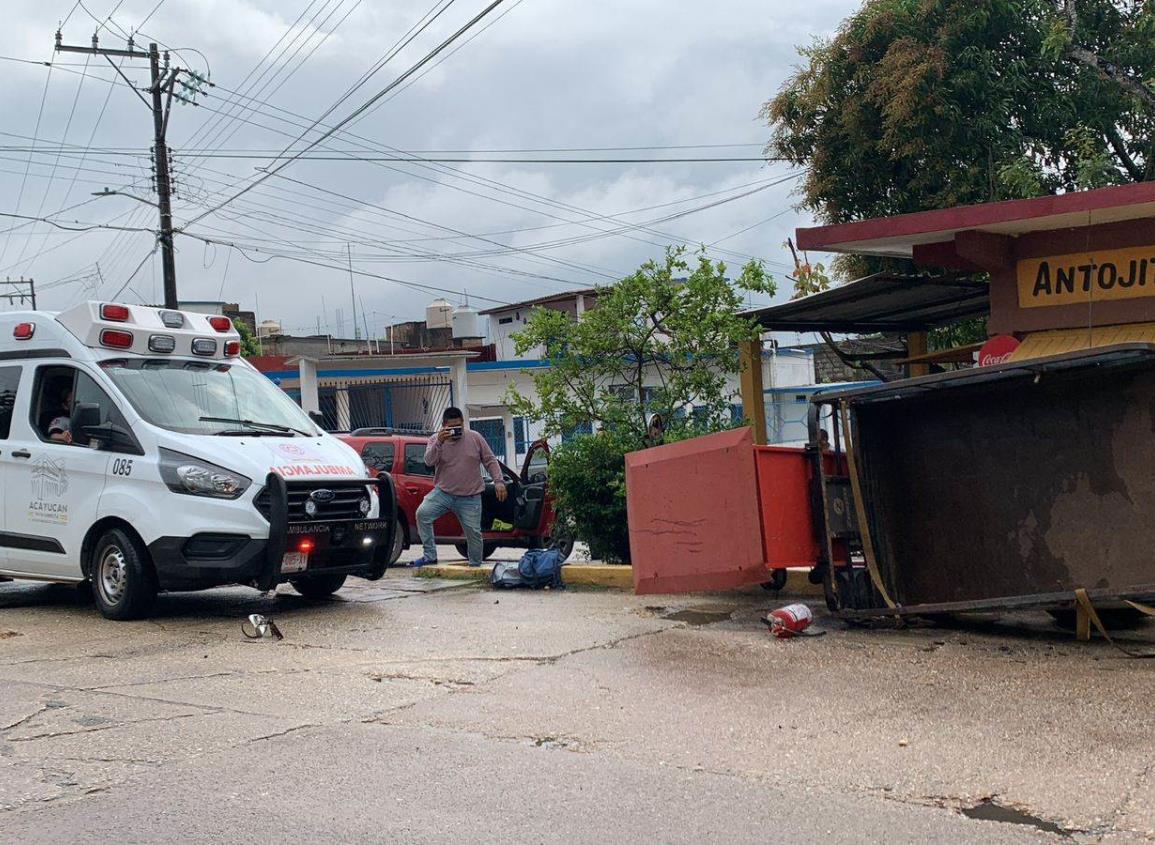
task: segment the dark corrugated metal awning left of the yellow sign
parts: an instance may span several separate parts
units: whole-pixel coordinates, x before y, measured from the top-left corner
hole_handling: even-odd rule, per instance
[[[875,274],[821,293],[745,312],[768,331],[925,331],[990,312],[985,282]]]

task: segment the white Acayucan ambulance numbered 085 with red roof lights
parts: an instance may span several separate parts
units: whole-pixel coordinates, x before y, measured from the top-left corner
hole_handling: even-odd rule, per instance
[[[377,578],[395,496],[240,357],[229,317],[113,302],[0,315],[0,579],[161,590]]]

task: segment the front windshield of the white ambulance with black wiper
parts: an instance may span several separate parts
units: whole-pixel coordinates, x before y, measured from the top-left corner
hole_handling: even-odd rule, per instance
[[[136,412],[186,434],[313,436],[316,426],[263,375],[231,364],[112,360],[100,365]]]

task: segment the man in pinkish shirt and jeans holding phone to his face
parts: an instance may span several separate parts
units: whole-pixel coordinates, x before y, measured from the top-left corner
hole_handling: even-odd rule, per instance
[[[485,438],[465,428],[461,410],[447,407],[441,414],[441,431],[431,436],[425,447],[425,465],[434,470],[433,489],[417,508],[417,532],[422,537],[424,554],[411,566],[437,563],[433,523],[452,511],[465,532],[469,566],[479,567],[483,556],[482,492],[485,489],[482,468],[490,471],[498,501],[504,502],[508,492],[502,481],[501,464]]]

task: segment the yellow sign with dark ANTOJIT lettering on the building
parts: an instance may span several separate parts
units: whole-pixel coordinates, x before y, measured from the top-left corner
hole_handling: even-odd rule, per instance
[[[1018,275],[1022,308],[1155,297],[1155,247],[1027,259]]]

